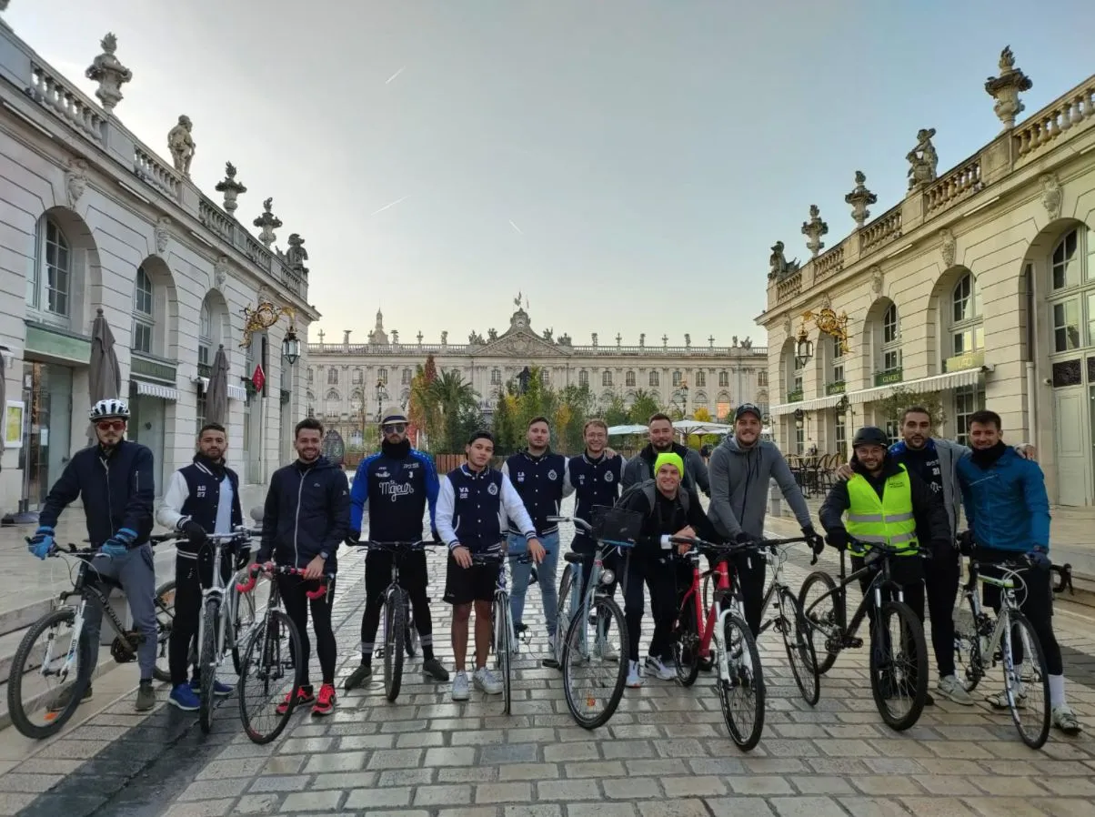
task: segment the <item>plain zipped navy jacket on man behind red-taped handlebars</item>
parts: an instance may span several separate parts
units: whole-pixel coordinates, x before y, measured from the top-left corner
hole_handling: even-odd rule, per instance
[[[326,556],[326,572],[338,569],[335,552],[349,529],[349,484],[326,457],[297,460],[270,477],[263,511],[258,561],[307,567]]]

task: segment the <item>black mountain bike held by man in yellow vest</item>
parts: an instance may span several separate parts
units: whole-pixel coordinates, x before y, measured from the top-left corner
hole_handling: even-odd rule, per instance
[[[825,675],[842,649],[862,647],[863,640],[856,637],[856,632],[869,614],[871,633],[879,636],[873,637],[871,645],[871,692],[886,725],[896,732],[903,732],[917,723],[927,700],[927,644],[923,624],[904,603],[901,586],[890,576],[890,560],[917,559],[927,554],[909,555],[907,550],[881,543],[872,543],[869,548],[861,542],[853,541],[852,544],[860,548],[852,551],[852,555],[866,557],[863,567],[850,576],[845,575],[844,551],[841,550],[839,586],[828,573],[816,571],[806,577],[798,591],[798,605],[806,614],[810,640],[815,641],[814,670]],[[863,592],[851,624],[845,626],[848,587],[868,575],[872,576],[871,583]],[[823,592],[807,603],[815,586],[822,586]],[[831,609],[825,610],[827,603]],[[898,623],[896,636],[887,625],[891,619]],[[822,640],[823,652],[818,649],[818,637]],[[895,642],[898,645],[896,655]],[[910,680],[914,688],[908,710],[903,714],[895,712],[889,707],[889,701],[899,697],[903,700],[906,695],[900,695],[900,692]]]

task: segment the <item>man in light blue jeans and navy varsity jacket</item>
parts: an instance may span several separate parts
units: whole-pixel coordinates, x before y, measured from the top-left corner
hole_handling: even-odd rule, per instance
[[[537,568],[537,582],[543,600],[544,621],[548,625],[548,643],[555,643],[555,624],[558,618],[558,588],[555,586],[555,566],[558,563],[558,522],[548,521],[548,517],[558,514],[566,490],[566,457],[549,448],[551,424],[546,417],[529,421],[526,434],[528,448],[506,460],[502,472],[509,477],[517,495],[537,529],[537,539],[548,551]],[[509,553],[519,554],[527,550],[525,537],[515,519],[509,520]],[[518,563],[512,571],[512,592],[509,608],[514,619],[514,631],[523,630],[521,615],[525,613],[525,594],[529,587],[532,565]],[[515,644],[516,649],[516,644]]]

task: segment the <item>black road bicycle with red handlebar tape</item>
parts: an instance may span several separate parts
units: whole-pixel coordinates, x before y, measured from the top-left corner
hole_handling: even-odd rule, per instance
[[[297,690],[304,682],[304,661],[302,660],[303,646],[300,633],[292,619],[281,607],[281,594],[278,590],[278,583],[273,580],[276,576],[299,576],[303,577],[303,567],[289,567],[285,565],[253,564],[247,571],[247,578],[243,583],[237,583],[235,589],[241,594],[249,594],[255,589],[258,575],[265,573],[272,578],[269,598],[266,601],[266,610],[261,622],[256,622],[247,646],[243,651],[243,661],[240,667],[240,681],[238,691],[240,693],[240,720],[243,722],[243,729],[252,743],[268,744],[276,739],[285,729],[292,717],[293,710],[297,709]],[[324,578],[330,583],[333,574],[326,574]],[[326,585],[320,585],[315,590],[309,590],[306,595],[309,599],[318,599],[326,595]],[[287,636],[288,643],[283,648],[281,635]],[[247,707],[247,679],[251,677],[251,667],[254,666],[254,683],[257,688],[257,706],[254,711]],[[290,680],[288,688],[280,688],[277,691],[272,686]],[[267,730],[260,730],[256,726],[258,718],[273,711],[276,715],[274,725]]]

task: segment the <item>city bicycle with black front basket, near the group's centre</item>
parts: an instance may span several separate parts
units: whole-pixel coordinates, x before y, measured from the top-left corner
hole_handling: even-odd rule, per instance
[[[567,568],[563,571],[560,583],[555,655],[556,665],[563,670],[563,692],[570,716],[578,726],[596,729],[608,723],[615,713],[623,697],[624,684],[627,682],[626,663],[619,657],[613,661],[608,655],[608,632],[613,622],[620,634],[621,648],[626,648],[629,640],[627,622],[623,611],[608,594],[615,575],[604,566],[604,559],[611,551],[615,551],[619,555],[624,549],[634,546],[635,543],[629,533],[638,530],[642,516],[621,508],[597,506],[593,508],[592,525],[585,519],[566,516],[550,516],[548,521],[569,522],[587,533],[595,542],[592,568],[588,578],[583,577],[583,554],[574,551],[563,554]],[[592,633],[589,628],[592,628]],[[562,642],[558,641],[560,633],[564,634]],[[590,644],[593,645],[592,649],[589,648]],[[604,681],[591,677],[590,689],[585,694],[578,694],[576,684],[580,670],[591,670],[590,676],[593,676],[599,669],[613,663],[615,666],[608,668]],[[609,677],[611,683],[608,682]],[[610,691],[607,698],[603,698],[603,709],[597,711],[598,700],[601,700],[600,691],[603,689]]]

